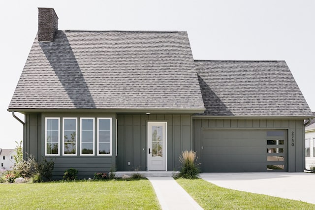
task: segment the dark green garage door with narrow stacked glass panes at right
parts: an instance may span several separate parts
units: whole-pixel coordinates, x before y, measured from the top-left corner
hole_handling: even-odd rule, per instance
[[[286,172],[287,130],[203,129],[202,172]]]

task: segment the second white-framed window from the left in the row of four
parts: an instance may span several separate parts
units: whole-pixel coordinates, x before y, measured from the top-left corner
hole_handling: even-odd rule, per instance
[[[63,155],[77,154],[77,119],[63,118]]]

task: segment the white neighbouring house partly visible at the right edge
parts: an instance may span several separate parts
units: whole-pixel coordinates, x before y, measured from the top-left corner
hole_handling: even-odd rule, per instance
[[[315,167],[315,112],[314,119],[305,126],[305,165],[307,169]]]

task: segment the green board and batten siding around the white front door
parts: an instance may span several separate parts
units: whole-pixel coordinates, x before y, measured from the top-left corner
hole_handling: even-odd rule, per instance
[[[167,171],[180,170],[179,155],[193,149],[191,115],[118,114],[117,121],[117,171],[147,171],[149,121],[167,122]]]

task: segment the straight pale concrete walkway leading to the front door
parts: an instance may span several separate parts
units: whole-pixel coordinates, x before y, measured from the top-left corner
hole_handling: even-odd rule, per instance
[[[172,177],[148,177],[162,210],[202,210]]]

